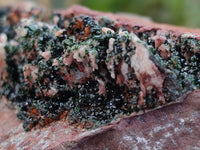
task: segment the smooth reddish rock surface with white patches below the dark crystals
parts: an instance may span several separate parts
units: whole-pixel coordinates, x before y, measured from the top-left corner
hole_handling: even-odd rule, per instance
[[[0,149],[200,149],[200,90],[183,102],[116,121],[100,129],[70,128],[64,120],[24,132],[15,110],[0,101]]]

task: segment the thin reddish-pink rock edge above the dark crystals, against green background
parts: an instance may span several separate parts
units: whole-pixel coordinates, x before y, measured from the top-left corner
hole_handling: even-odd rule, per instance
[[[169,31],[176,36],[180,36],[183,33],[189,33],[189,32],[192,33],[193,35],[200,36],[200,29],[155,23],[147,18],[138,17],[134,15],[98,12],[78,5],[74,5],[70,7],[70,9],[68,10],[57,10],[54,12],[62,14],[67,18],[71,18],[72,16],[81,16],[83,14],[93,17],[95,18],[95,20],[99,20],[102,17],[107,17],[114,21],[116,27],[125,27],[130,31],[133,30],[132,29],[133,26],[138,26],[141,27],[140,29],[141,32],[148,30],[163,30],[163,31]]]

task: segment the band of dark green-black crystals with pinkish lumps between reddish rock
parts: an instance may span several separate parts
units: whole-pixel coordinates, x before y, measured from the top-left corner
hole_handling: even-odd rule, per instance
[[[1,50],[1,93],[19,107],[25,130],[63,117],[98,127],[199,88],[191,37],[133,33],[88,16],[50,22],[21,20]]]

